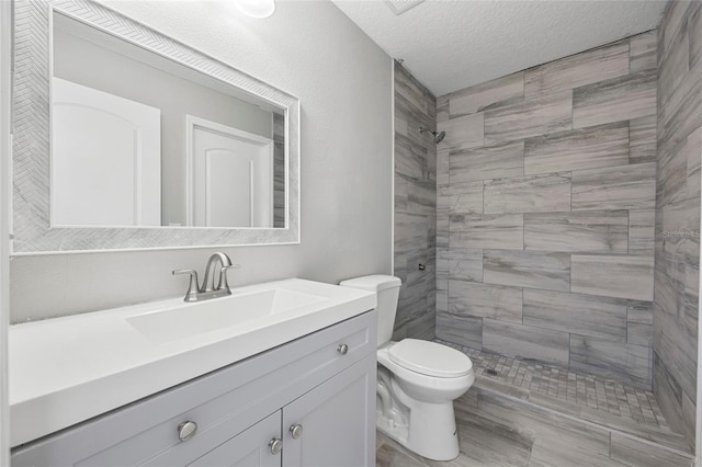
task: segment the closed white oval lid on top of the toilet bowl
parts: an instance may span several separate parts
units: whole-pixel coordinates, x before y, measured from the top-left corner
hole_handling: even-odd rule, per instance
[[[455,349],[418,339],[403,339],[389,349],[396,364],[427,376],[456,378],[473,369],[473,363]]]

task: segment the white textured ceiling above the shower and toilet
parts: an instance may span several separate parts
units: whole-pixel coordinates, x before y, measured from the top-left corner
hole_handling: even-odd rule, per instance
[[[395,15],[382,0],[332,0],[434,95],[652,30],[666,2],[427,0]]]

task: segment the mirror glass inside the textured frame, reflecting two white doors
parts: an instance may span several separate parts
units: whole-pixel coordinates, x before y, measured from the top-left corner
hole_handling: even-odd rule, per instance
[[[280,109],[61,14],[54,20],[54,226],[285,226]],[[199,135],[188,133],[191,119]],[[194,141],[206,147],[191,161]],[[145,172],[151,160],[158,179]]]

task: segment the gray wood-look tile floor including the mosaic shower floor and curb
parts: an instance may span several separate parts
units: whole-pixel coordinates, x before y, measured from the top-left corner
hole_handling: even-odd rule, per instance
[[[461,454],[430,460],[378,432],[377,467],[692,465],[689,441],[670,431],[649,391],[449,345],[476,374],[454,403]]]

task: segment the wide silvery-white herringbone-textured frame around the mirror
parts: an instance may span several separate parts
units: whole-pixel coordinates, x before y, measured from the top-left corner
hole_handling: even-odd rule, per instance
[[[299,243],[299,100],[171,37],[86,0],[14,5],[13,254]],[[57,11],[285,112],[285,228],[52,227],[52,23]]]

